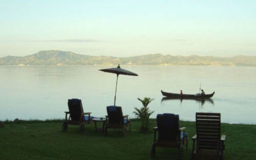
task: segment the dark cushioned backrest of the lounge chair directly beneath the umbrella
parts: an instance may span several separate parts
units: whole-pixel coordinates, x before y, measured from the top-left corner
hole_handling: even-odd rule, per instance
[[[120,106],[107,106],[108,122],[110,124],[123,124],[124,117],[122,107]]]

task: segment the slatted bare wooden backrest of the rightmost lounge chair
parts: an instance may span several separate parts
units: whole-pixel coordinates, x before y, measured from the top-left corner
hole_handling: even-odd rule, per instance
[[[197,152],[220,151],[220,113],[196,113]]]

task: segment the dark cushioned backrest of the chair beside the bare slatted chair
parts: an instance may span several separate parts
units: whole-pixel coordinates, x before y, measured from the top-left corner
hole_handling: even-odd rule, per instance
[[[156,116],[158,140],[176,142],[180,138],[179,115],[158,114]]]

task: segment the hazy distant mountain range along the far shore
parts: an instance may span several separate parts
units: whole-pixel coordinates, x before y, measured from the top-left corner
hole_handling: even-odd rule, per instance
[[[88,56],[60,50],[44,50],[29,56],[6,56],[0,65],[203,65],[203,66],[256,66],[256,56],[171,56],[147,54],[118,58],[112,56]]]

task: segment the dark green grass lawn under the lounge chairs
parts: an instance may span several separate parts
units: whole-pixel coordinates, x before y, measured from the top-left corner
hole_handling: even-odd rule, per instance
[[[156,120],[150,120],[152,127]],[[132,131],[122,137],[119,130],[108,130],[108,136],[94,131],[94,124],[86,125],[80,134],[78,126],[68,126],[61,131],[61,120],[4,122],[0,128],[0,160],[144,160],[150,159],[153,131],[141,133],[140,122],[132,120]],[[98,124],[100,125],[100,124]],[[186,126],[189,136],[188,150],[184,150],[183,160],[190,159],[191,137],[196,133],[194,122],[180,122]],[[226,134],[226,160],[256,159],[256,126],[222,124],[222,134]],[[161,153],[159,153],[161,152]],[[178,159],[178,150],[157,148],[156,160]]]

